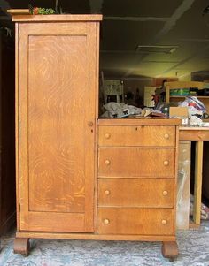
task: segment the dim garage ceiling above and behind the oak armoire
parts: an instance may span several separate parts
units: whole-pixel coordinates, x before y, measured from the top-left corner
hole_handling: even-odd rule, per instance
[[[54,7],[55,0],[1,0],[7,8]],[[100,69],[108,78],[178,77],[209,72],[209,0],[59,0],[67,13],[102,13]],[[5,17],[0,13],[0,19]],[[0,21],[1,23],[1,21]],[[158,46],[140,48],[137,46]],[[161,47],[161,46],[164,46]],[[175,46],[174,52],[164,51]]]

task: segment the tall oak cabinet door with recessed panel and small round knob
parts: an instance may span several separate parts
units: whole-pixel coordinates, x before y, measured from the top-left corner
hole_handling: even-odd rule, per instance
[[[94,232],[97,23],[17,32],[18,230]]]

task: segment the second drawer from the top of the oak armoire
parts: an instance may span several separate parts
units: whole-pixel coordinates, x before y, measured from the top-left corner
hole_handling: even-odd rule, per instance
[[[105,177],[174,178],[174,148],[99,148],[98,174]]]

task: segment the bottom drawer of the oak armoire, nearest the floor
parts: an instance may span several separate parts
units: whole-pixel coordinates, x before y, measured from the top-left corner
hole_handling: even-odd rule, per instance
[[[174,209],[98,208],[100,234],[174,235]]]

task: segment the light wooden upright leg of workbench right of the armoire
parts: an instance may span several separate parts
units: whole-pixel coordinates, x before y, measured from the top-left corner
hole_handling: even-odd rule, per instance
[[[195,150],[195,191],[193,220],[200,224],[200,212],[202,201],[202,178],[203,178],[203,141],[196,141]]]

